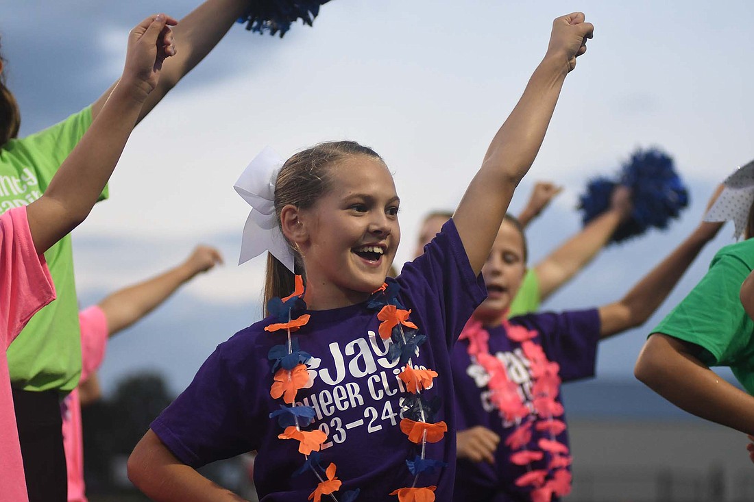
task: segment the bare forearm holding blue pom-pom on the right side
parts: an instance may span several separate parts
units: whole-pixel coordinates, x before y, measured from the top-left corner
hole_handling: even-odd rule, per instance
[[[597,256],[618,226],[630,216],[631,209],[630,189],[624,186],[615,188],[610,208],[605,213],[535,265],[542,300],[560,289]]]

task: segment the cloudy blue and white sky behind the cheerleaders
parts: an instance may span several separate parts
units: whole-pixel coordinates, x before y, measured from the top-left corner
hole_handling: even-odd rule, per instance
[[[77,112],[118,78],[127,32],[144,17],[158,9],[182,17],[195,5],[0,2],[21,135]],[[196,243],[218,246],[226,263],[112,341],[101,371],[106,392],[143,369],[163,372],[181,390],[216,344],[259,320],[264,260],[235,265],[248,207],[232,185],[265,145],[284,157],[329,139],[375,148],[402,199],[397,265],[409,259],[422,216],[457,204],[561,14],[584,11],[596,30],[511,205],[520,210],[536,180],[566,188],[529,228],[531,262],[581,228],[575,206],[587,180],[615,173],[637,147],[656,145],[673,156],[691,205],[668,231],[606,249],[545,308],[621,298],[693,230],[716,183],[754,157],[754,106],[746,93],[751,2],[460,6],[333,0],[313,29],[293,26],[282,40],[234,26],[139,124],[112,176],[110,199],[75,231],[82,304],[176,265]],[[633,378],[645,335],[732,242],[732,231],[723,228],[645,326],[602,343],[598,375]]]

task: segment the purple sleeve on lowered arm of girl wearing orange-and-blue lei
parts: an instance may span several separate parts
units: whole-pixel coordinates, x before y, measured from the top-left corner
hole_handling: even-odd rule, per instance
[[[217,347],[189,387],[150,425],[190,467],[258,449],[265,428],[274,424],[259,403],[259,382],[265,381],[259,368],[268,365],[239,358],[228,344]]]

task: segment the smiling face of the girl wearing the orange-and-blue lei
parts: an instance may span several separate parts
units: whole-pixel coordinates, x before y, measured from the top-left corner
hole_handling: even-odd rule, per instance
[[[329,168],[329,190],[299,211],[305,300],[314,310],[363,302],[382,286],[400,242],[393,176],[379,159],[348,155]]]

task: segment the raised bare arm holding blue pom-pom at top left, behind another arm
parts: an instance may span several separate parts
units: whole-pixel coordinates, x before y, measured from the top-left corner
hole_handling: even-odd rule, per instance
[[[165,63],[160,82],[144,103],[137,122],[146,117],[181,78],[210,54],[249,5],[249,0],[207,0],[180,21],[171,35],[180,51]],[[170,40],[168,38],[167,41]],[[97,117],[114,87],[115,84],[93,103],[93,118]]]

